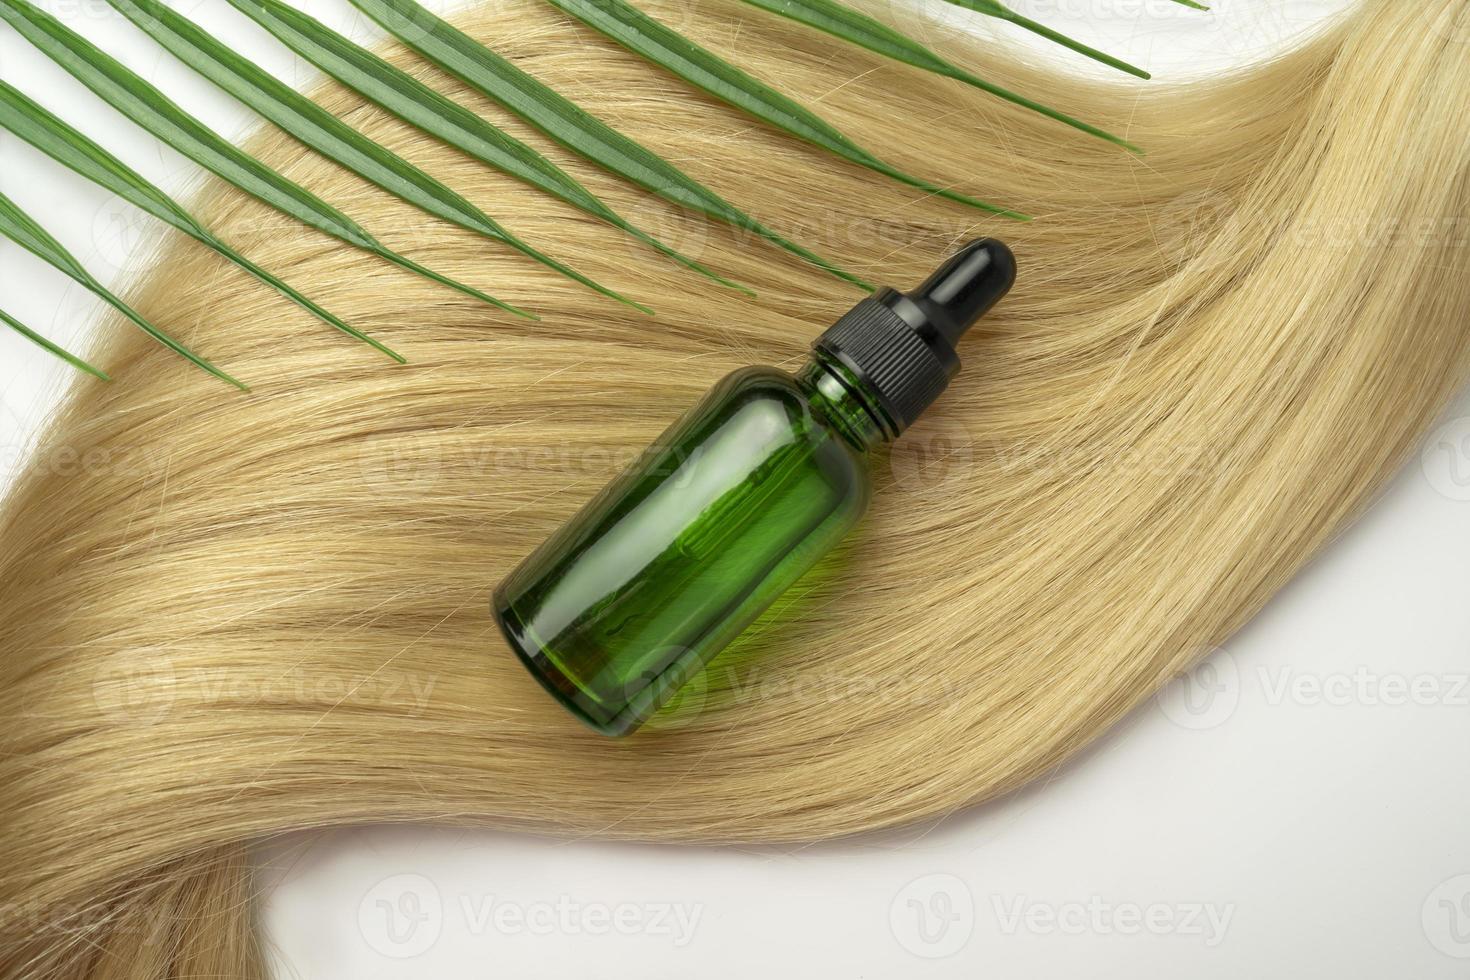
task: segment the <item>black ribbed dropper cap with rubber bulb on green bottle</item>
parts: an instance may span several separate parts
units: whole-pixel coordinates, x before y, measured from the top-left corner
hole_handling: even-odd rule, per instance
[[[960,370],[956,344],[1016,282],[1016,256],[994,238],[973,241],[913,292],[882,288],[811,345],[838,360],[878,398],[895,436]]]

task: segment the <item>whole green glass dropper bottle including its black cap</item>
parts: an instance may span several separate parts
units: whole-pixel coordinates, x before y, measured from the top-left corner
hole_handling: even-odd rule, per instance
[[[939,397],[1014,278],[1004,244],[972,242],[863,300],[797,375],[725,378],[495,589],[512,649],[595,730],[634,732],[853,529],[869,451]]]

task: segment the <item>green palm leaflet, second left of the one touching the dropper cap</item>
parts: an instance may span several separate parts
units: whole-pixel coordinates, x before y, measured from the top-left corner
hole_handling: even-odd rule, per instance
[[[423,212],[510,245],[563,276],[644,313],[648,307],[526,244],[457,192],[373,143],[157,0],[107,0],[169,53],[329,160]]]

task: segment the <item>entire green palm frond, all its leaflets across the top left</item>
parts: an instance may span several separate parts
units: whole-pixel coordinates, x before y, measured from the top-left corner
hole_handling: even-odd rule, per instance
[[[322,22],[301,13],[288,3],[282,3],[282,0],[228,1],[256,24],[265,26],[295,54],[423,132],[456,147],[487,166],[495,167],[592,215],[598,220],[623,231],[639,242],[714,282],[750,292],[745,287],[722,278],[700,262],[681,254],[637,228],[535,148],[488,120],[481,119],[465,106],[444,97],[407,72],[329,29]],[[700,47],[667,25],[650,18],[628,0],[547,1],[635,51],[645,60],[662,66],[716,98],[789,135],[806,140],[851,163],[920,188],[929,194],[1007,217],[1028,220],[1026,216],[1003,206],[989,204],[898,170],[856,144],[810,109],[750,76],[735,65]],[[885,57],[957,79],[1067,126],[1117,144],[1133,153],[1141,153],[1136,145],[1116,134],[995,85],[960,68],[903,31],[867,16],[841,0],[744,1]],[[1197,10],[1208,9],[1197,0],[1173,1]],[[107,3],[203,78],[207,78],[223,91],[254,109],[300,143],[369,182],[376,184],[435,217],[509,245],[603,295],[650,311],[647,307],[603,287],[567,267],[564,263],[551,259],[539,248],[522,241],[465,197],[409,160],[357,132],[326,109],[282,84],[250,60],[234,53],[218,38],[160,3],[160,0],[107,0]],[[419,0],[351,0],[351,3],[422,57],[459,78],[470,88],[500,103],[556,143],[606,167],[625,181],[648,190],[679,207],[753,232],[839,279],[864,289],[873,288],[870,284],[842,270],[811,250],[772,231],[659,154],[594,118],[495,51],[437,18]],[[1001,0],[947,0],[947,3],[1014,24],[1104,65],[1139,78],[1148,78],[1148,72],[1038,24],[1010,9]],[[178,150],[194,163],[269,204],[282,215],[497,309],[537,319],[525,310],[444,276],[388,248],[337,207],[298,184],[288,181],[260,160],[238,150],[228,140],[178,107],[156,87],[66,28],[54,16],[38,9],[32,0],[0,0],[0,19],[6,21],[41,53],[66,69],[103,101],[134,123]],[[118,157],[3,81],[0,81],[0,126],[15,132],[87,179],[110,190],[141,210],[203,242],[332,328],[373,345],[395,360],[403,360],[403,357],[384,344],[344,323],[238,253],[187,210],[179,207],[163,191],[118,160]],[[0,197],[0,234],[13,238],[22,247],[62,269],[72,279],[122,311],[160,344],[165,344],[212,375],[244,388],[241,382],[173,341],[135,310],[118,300],[118,297],[107,292],[106,288],[82,269],[75,257],[13,201],[4,197]],[[22,326],[9,314],[0,313],[0,322],[75,367],[98,378],[106,378],[106,375],[91,364]]]

